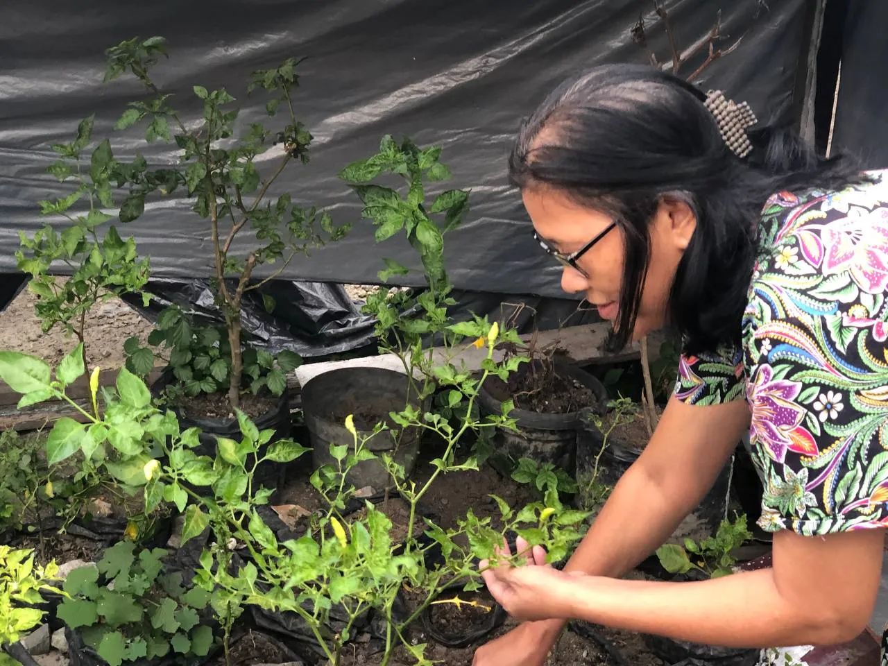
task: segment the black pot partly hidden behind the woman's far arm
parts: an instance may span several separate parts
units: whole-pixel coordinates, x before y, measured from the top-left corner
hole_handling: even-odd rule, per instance
[[[601,451],[603,436],[599,428],[589,417],[590,410],[585,410],[576,431],[576,479],[580,486],[579,501],[583,502],[584,484],[591,479],[595,457]],[[638,460],[643,448],[638,444],[621,440],[617,431],[607,438],[607,447],[599,458],[598,481],[611,488],[616,485],[622,475]],[[733,456],[721,472],[709,492],[703,496],[699,504],[691,511],[670,535],[668,543],[684,543],[686,538],[700,541],[714,535],[727,511],[728,490],[733,472]]]

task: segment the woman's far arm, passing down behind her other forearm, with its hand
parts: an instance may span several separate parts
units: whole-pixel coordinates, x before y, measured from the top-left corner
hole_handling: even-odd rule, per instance
[[[744,400],[695,407],[672,398],[644,453],[622,475],[566,571],[620,576],[700,503],[749,427]],[[476,666],[542,663],[565,621],[525,622],[481,646]]]

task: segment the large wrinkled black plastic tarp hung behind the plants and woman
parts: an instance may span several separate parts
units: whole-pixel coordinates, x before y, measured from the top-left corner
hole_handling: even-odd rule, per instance
[[[781,120],[792,120],[798,67],[805,62],[805,4],[662,2],[682,51],[705,41],[721,12],[718,45],[730,46],[740,37],[742,42],[698,83],[747,99],[762,119]],[[346,163],[372,154],[380,137],[392,133],[442,145],[442,160],[455,174],[444,186],[472,189],[472,211],[446,243],[457,288],[562,297],[559,266],[531,239],[519,196],[506,182],[505,158],[520,119],[565,75],[606,61],[647,61],[646,48],[632,36],[639,16],[646,21],[649,48],[661,62],[669,61],[669,44],[650,0],[4,3],[0,273],[15,270],[19,229],[30,233],[42,223],[37,202],[67,194],[45,173],[55,159],[50,146],[72,138],[86,115],[97,113],[94,136],[112,137],[123,158],[138,148],[149,163],[175,159],[161,144],[146,149],[136,131],[112,129],[126,103],[139,99],[139,85],[101,83],[108,46],[131,36],[161,35],[169,40],[170,59],[156,67],[156,80],[163,91],[175,93],[186,118],[200,113],[191,91],[200,83],[226,86],[239,98],[242,125],[263,120],[265,98],[246,98],[250,72],[307,56],[295,102],[315,137],[313,159],[307,166],[291,165],[273,194],[289,191],[301,205],[327,207],[337,222],[357,224],[345,241],[298,258],[281,278],[373,283],[383,257],[418,266],[400,238],[380,245],[372,240],[369,222],[358,223],[356,198],[336,178]],[[704,56],[705,49],[682,73],[694,71]],[[270,151],[260,169],[272,168],[277,155]],[[185,201],[150,202],[145,216],[122,233],[136,236],[158,278],[210,274],[209,230]],[[411,274],[396,283],[418,286],[422,278]]]

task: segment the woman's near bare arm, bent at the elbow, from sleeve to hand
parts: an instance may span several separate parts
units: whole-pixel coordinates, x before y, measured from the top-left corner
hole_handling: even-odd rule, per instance
[[[493,569],[487,577],[494,596],[518,617],[578,618],[727,647],[835,645],[868,623],[883,548],[882,529],[824,537],[782,532],[774,538],[773,568],[700,583],[566,575],[546,567]]]

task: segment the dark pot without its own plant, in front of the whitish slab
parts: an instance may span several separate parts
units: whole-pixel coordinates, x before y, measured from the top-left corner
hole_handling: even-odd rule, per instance
[[[302,408],[305,425],[311,436],[314,469],[337,461],[330,455],[331,444],[343,445],[354,450],[354,437],[345,429],[345,416],[355,415],[358,437],[366,440],[364,446],[376,456],[387,453],[403,466],[407,477],[416,466],[416,453],[422,431],[418,428],[400,428],[377,432],[373,426],[363,430],[360,416],[372,424],[387,421],[390,412],[400,412],[408,404],[424,411],[430,400],[422,404],[412,392],[408,377],[395,370],[384,368],[340,368],[321,373],[309,379],[302,387]],[[393,432],[400,432],[396,440]],[[369,438],[369,439],[368,439]],[[370,487],[380,490],[389,485],[389,474],[382,461],[364,460],[356,464],[345,476],[346,483],[355,488]]]

